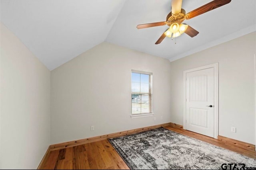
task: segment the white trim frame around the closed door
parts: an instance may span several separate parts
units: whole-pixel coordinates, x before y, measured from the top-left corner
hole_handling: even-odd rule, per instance
[[[204,70],[207,68],[214,68],[214,122],[213,122],[213,137],[215,139],[218,139],[218,117],[219,117],[219,106],[218,106],[218,101],[219,101],[219,92],[218,92],[218,63],[213,63],[213,64],[208,64],[206,66],[200,66],[197,68],[192,68],[189,70],[184,70],[183,71],[183,129],[186,130],[186,74],[188,72],[194,72],[194,71],[199,71],[199,70]]]

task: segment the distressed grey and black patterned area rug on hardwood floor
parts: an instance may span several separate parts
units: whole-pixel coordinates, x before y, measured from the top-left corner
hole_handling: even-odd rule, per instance
[[[109,141],[130,169],[256,167],[256,160],[253,158],[162,127]]]

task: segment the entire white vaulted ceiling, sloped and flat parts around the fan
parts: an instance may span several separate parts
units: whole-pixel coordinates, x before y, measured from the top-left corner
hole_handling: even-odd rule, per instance
[[[108,41],[173,61],[256,31],[256,1],[232,0],[185,20],[199,34],[185,33],[154,43],[168,28],[137,29],[138,24],[165,21],[171,0],[0,0],[1,22],[52,70],[88,49]],[[190,12],[212,0],[183,0]],[[174,43],[176,41],[176,44]]]

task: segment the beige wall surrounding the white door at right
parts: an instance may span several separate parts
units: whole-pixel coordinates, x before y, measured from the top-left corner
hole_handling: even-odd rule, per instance
[[[255,37],[253,32],[171,62],[172,122],[183,124],[183,70],[219,63],[219,135],[255,144]]]

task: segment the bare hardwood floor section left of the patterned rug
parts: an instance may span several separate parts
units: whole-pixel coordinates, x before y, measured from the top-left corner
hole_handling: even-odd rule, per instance
[[[42,169],[129,169],[108,140],[52,150]]]

